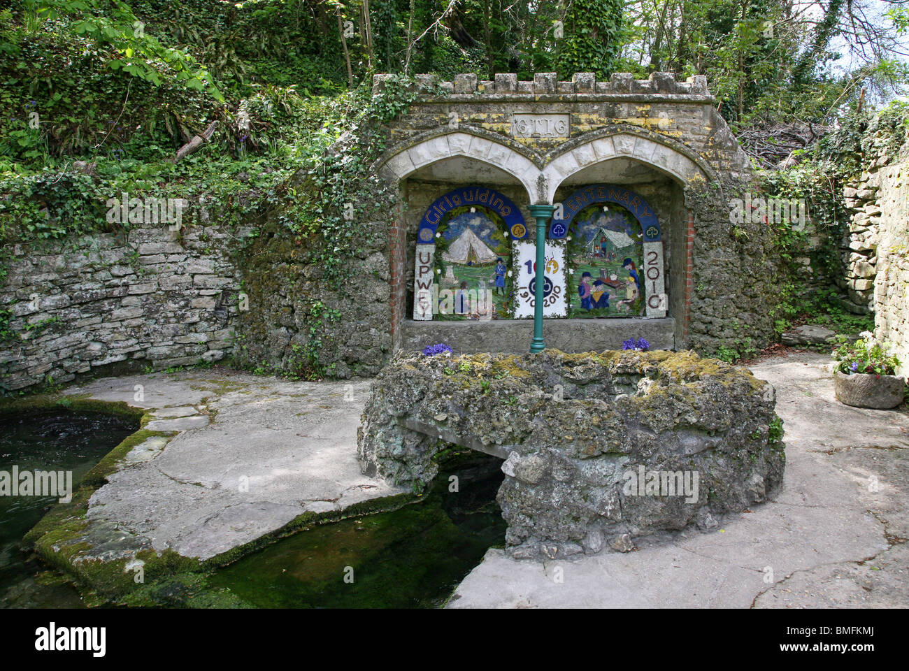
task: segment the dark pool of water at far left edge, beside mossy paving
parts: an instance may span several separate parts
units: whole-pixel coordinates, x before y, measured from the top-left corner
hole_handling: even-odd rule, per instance
[[[101,457],[138,428],[124,416],[34,415],[0,421],[0,470],[72,471],[73,488]],[[57,501],[54,496],[0,496],[0,607],[84,607],[75,587],[29,559],[22,537]]]

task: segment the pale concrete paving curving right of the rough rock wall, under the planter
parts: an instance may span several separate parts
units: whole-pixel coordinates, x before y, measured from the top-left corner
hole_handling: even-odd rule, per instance
[[[750,366],[777,390],[776,500],[709,534],[539,564],[490,550],[448,607],[909,606],[909,415],[834,398],[828,356]]]

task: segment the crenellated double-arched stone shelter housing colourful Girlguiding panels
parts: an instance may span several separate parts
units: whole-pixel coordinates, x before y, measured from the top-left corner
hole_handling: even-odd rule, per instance
[[[376,92],[386,76],[375,76]],[[532,309],[522,313],[520,295],[532,294],[525,250],[533,248],[535,224],[528,205],[556,206],[547,222],[547,295],[552,276],[572,304],[551,311],[546,305],[547,317],[568,317],[547,319],[547,346],[602,350],[632,335],[667,349],[713,351],[744,337],[755,346],[768,342],[775,283],[768,232],[759,224],[731,225],[730,200],[749,189],[752,174],[704,76],[684,82],[668,73],[647,80],[614,74],[608,82],[590,73],[570,82],[551,73],[526,82],[508,74],[494,81],[418,79],[425,95],[392,122],[377,165],[399,195],[389,213],[388,249],[395,348],[445,342],[464,352],[526,350],[532,325],[520,317]],[[452,225],[467,205],[491,210],[504,239],[483,245],[449,235],[440,245],[445,223]],[[585,255],[573,254],[570,240],[574,235],[576,244],[581,235],[573,226],[580,215],[591,221],[592,208],[601,205],[613,218],[596,240],[584,240]],[[615,212],[624,215],[624,229],[614,225]],[[623,247],[623,232],[640,246]],[[451,266],[473,265],[472,259],[483,265],[484,257],[491,264],[508,254],[511,297],[497,297],[492,310],[481,301],[467,318],[474,306],[459,292],[467,283]],[[623,259],[632,263],[620,266]],[[581,286],[584,274],[592,285]],[[493,275],[490,270],[480,284],[492,287]],[[449,295],[440,298],[446,278]],[[575,305],[585,292],[588,302]],[[435,314],[445,311],[446,300],[449,315]],[[608,308],[591,309],[606,301]],[[588,315],[612,318],[578,318]]]

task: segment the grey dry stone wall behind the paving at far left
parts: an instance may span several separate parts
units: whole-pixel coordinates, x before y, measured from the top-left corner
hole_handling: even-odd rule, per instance
[[[238,309],[232,244],[216,226],[156,225],[15,245],[0,287],[0,388],[220,360]]]

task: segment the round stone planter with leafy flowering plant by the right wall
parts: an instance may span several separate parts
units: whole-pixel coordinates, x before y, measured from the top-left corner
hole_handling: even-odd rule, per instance
[[[834,393],[847,406],[886,409],[904,400],[905,379],[896,375],[899,359],[886,342],[876,342],[868,331],[854,343],[834,349]]]

